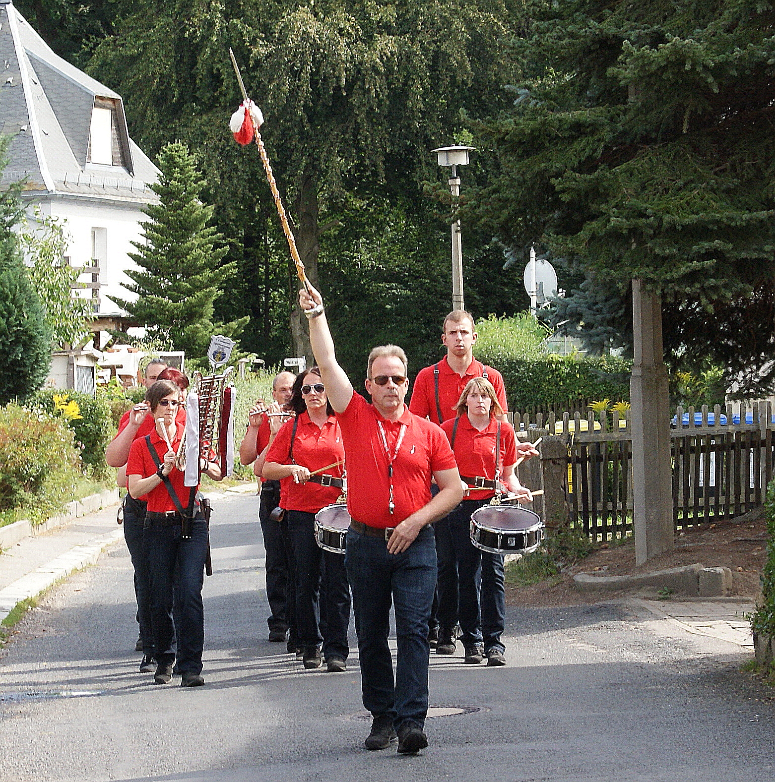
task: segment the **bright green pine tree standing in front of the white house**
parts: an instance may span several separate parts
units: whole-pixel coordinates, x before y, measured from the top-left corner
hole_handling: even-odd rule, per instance
[[[213,302],[233,274],[235,264],[223,264],[227,248],[209,225],[213,207],[200,201],[204,178],[193,155],[179,142],[159,153],[161,176],[153,192],[160,203],[146,207],[150,222],[141,223],[146,243],[134,242],[129,253],[139,270],[127,271],[134,281],[125,287],[138,294],[134,302],[114,299],[119,307],[149,328],[153,337],[204,357],[211,335],[237,335],[247,321],[214,324]]]

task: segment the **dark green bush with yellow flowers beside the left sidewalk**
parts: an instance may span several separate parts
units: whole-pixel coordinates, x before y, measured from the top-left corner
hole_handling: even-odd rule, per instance
[[[58,411],[55,397],[59,400],[66,397],[67,402],[75,402],[79,417],[69,418],[65,411]],[[74,432],[75,443],[81,450],[85,472],[96,478],[107,474],[105,449],[115,434],[115,428],[106,396],[99,394],[94,398],[77,391],[46,389],[34,394],[31,405],[46,413],[61,416],[67,421],[67,425]]]

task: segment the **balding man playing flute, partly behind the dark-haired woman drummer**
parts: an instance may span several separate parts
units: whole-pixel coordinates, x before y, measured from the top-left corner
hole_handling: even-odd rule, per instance
[[[290,400],[291,389],[294,387],[296,375],[293,372],[280,372],[272,380],[272,399],[274,400],[267,413],[274,414],[272,418],[261,413],[258,407],[254,407],[249,415],[247,432],[240,444],[240,461],[243,465],[249,465],[256,459],[261,460],[257,465],[258,475],[261,475],[263,457],[269,449],[269,443],[274,439],[271,421],[278,424],[275,433],[279,430],[279,423],[286,418],[277,414],[283,411],[283,407]],[[286,540],[283,536],[283,523],[273,522],[269,515],[279,505],[279,481],[261,479],[261,502],[258,506],[258,520],[261,522],[261,535],[264,538],[264,550],[266,552],[266,599],[269,601],[269,640],[281,642],[288,637],[288,651],[294,651],[297,645],[293,627],[293,610],[289,605],[289,569],[286,551]]]

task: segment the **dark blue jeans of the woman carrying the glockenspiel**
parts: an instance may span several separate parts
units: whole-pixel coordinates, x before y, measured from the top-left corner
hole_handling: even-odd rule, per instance
[[[207,522],[191,522],[191,537],[183,539],[179,524],[146,527],[146,558],[151,581],[151,612],[156,662],[175,662],[178,673],[201,673],[204,651],[204,560],[207,557]],[[178,577],[179,620],[175,643],[172,607]]]

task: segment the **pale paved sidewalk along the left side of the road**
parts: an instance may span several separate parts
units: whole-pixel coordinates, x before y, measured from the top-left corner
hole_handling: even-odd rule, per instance
[[[254,483],[227,493],[255,493]],[[208,497],[223,496],[208,493]],[[118,505],[103,508],[38,536],[23,538],[0,553],[0,622],[13,607],[34,597],[70,573],[95,565],[103,550],[124,537],[117,524]]]

